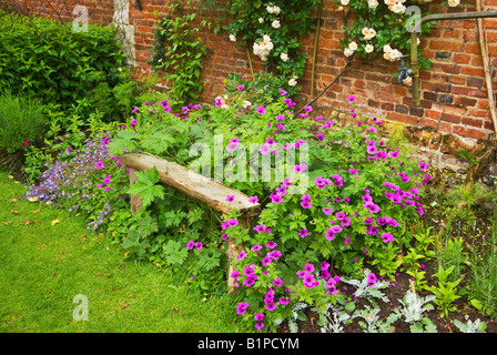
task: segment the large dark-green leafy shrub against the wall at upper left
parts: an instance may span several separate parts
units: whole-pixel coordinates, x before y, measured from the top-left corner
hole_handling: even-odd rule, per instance
[[[97,24],[75,32],[55,20],[0,12],[0,87],[62,110],[88,99],[83,113],[123,116],[133,103],[119,98],[133,97],[134,88],[114,32]]]

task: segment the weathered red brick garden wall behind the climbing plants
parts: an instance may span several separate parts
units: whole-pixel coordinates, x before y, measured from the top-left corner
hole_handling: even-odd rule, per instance
[[[41,3],[45,1],[23,1],[33,12],[39,12]],[[58,3],[58,9],[64,12],[64,19],[72,20],[72,8],[75,3],[85,4],[90,9],[90,22],[109,23],[112,20],[112,0],[51,0]],[[142,10],[139,9],[141,3]],[[135,31],[136,62],[142,72],[150,72],[146,60],[154,40],[154,22],[156,18],[152,11],[165,14],[169,8],[164,0],[130,0],[130,24]],[[436,3],[440,1],[436,0]],[[53,13],[47,6],[45,13]],[[433,12],[475,11],[474,0],[454,9],[433,4]],[[497,0],[484,0],[485,10],[497,10]],[[210,14],[216,18],[216,14]],[[497,65],[497,19],[484,19],[489,43],[490,63]],[[344,37],[341,30],[342,13],[335,2],[324,1],[322,27],[317,47],[317,58],[314,77],[314,95],[329,83],[345,64],[345,57],[336,49],[338,40]],[[201,37],[209,49],[209,58],[204,61],[202,83],[204,92],[202,99],[213,101],[223,88],[223,80],[227,73],[236,72],[250,75],[247,53],[243,49],[235,50],[227,33],[214,34],[205,30]],[[462,50],[463,39],[467,42]],[[487,91],[484,78],[476,20],[445,20],[435,23],[429,36],[422,37],[420,45],[425,58],[433,61],[433,67],[420,72],[420,102],[413,105],[412,92],[406,87],[396,84],[392,73],[398,72],[399,63],[386,62],[377,58],[369,62],[355,60],[352,69],[333,85],[316,104],[323,109],[346,109],[345,98],[349,94],[357,97],[357,104],[362,113],[373,118],[384,119],[393,124],[405,124],[404,133],[410,135],[414,144],[425,144],[419,131],[436,128],[437,135],[450,135],[450,153],[457,154],[458,149],[479,148],[481,141],[488,140],[495,128],[488,108]],[[304,77],[298,79],[302,87],[301,102],[310,100],[311,68],[314,45],[314,33],[302,39],[303,50],[308,55]],[[460,51],[462,50],[462,51]],[[460,51],[460,53],[459,53]],[[262,70],[262,63],[253,55],[254,69]],[[454,67],[454,62],[457,64]],[[453,72],[454,70],[454,72]],[[450,73],[453,74],[450,75]],[[448,80],[449,90],[446,93]],[[494,75],[494,89],[497,80]],[[444,104],[445,102],[445,104]],[[416,133],[417,132],[417,133]],[[478,142],[479,140],[479,142]],[[447,152],[444,139],[430,139],[429,148],[434,152]]]

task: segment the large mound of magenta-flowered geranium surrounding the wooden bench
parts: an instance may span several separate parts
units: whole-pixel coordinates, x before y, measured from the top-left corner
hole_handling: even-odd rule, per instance
[[[168,100],[145,102],[133,109],[128,124],[105,126],[105,139],[89,145],[94,159],[83,164],[94,193],[80,212],[89,216],[89,226],[111,233],[130,257],[189,270],[189,283],[203,292],[224,293],[224,281],[232,277],[243,297],[234,312],[263,332],[280,329],[283,322],[293,322],[295,331],[306,307],[325,322],[331,307],[349,303],[346,283],[381,297],[383,280],[395,283],[404,271],[416,277],[415,290],[427,290],[417,258],[433,257],[435,235],[419,236],[413,227],[424,215],[420,197],[433,179],[428,164],[413,160],[405,146],[387,144],[382,122],[362,120],[355,97],[347,99],[346,119],[335,122],[314,114],[312,106],[295,114],[284,90],[280,99],[258,103],[247,102],[247,95],[239,85],[212,106],[190,104],[175,113]],[[133,151],[178,162],[245,193],[261,203],[258,219],[243,229],[237,211],[222,216],[159,186],[154,170],[136,174],[130,189],[126,170],[115,162]],[[60,171],[57,166],[48,176]],[[138,191],[146,203],[131,215],[128,194]],[[232,200],[226,195],[227,203]],[[227,239],[244,246],[231,275],[225,274]],[[369,268],[374,272],[365,274]],[[442,300],[437,308],[449,312],[453,301]],[[389,321],[403,316],[395,313]],[[432,329],[426,322],[413,326]]]

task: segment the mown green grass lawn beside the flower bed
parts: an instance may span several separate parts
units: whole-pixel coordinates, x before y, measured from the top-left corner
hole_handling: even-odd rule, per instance
[[[39,202],[16,201],[24,186],[0,171],[0,332],[232,333],[237,300],[203,296],[187,275],[123,260],[111,237]],[[53,221],[59,221],[53,222]],[[85,237],[83,237],[85,235]],[[88,297],[88,321],[73,311]]]

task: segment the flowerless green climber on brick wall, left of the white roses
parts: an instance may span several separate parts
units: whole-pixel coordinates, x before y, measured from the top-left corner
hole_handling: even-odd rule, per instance
[[[155,42],[149,62],[165,72],[163,79],[172,84],[170,93],[178,102],[196,102],[203,89],[200,74],[207,49],[196,36],[196,14],[184,14],[181,3],[173,3],[171,12],[179,12],[155,22]]]

